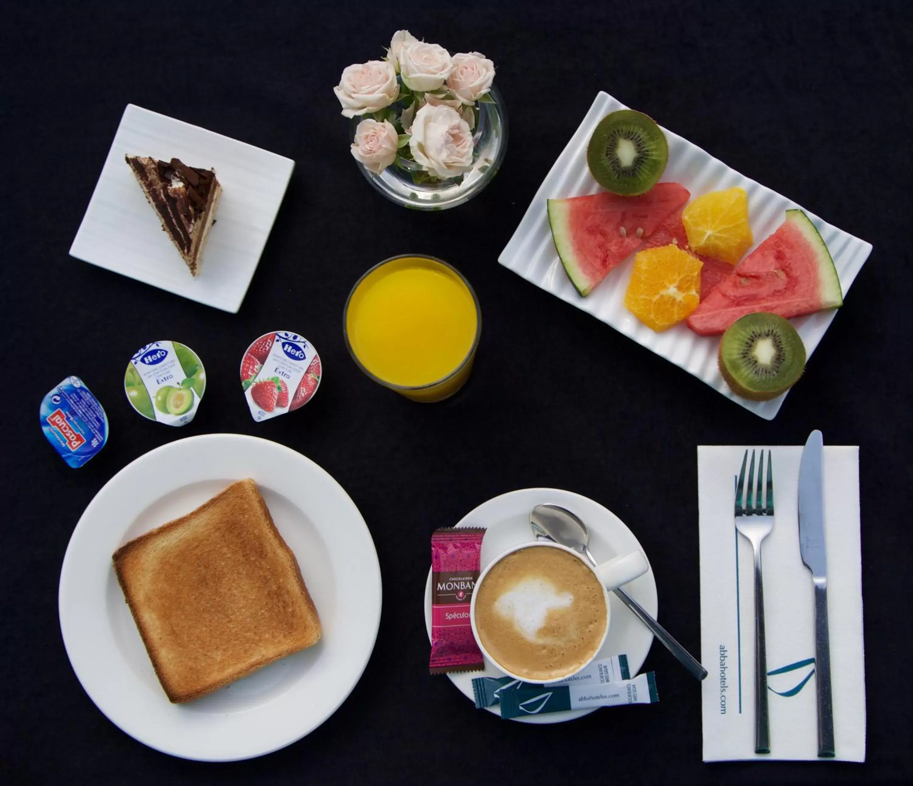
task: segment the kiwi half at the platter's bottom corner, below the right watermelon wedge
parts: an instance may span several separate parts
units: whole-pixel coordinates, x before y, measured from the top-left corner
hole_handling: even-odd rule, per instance
[[[761,311],[729,325],[717,359],[733,393],[767,401],[799,381],[805,369],[805,345],[789,322]]]

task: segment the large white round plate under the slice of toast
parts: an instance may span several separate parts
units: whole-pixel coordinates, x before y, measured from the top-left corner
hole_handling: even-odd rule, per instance
[[[111,555],[252,477],[295,553],[320,614],[320,642],[185,705],[168,701],[124,602]],[[381,620],[381,571],[352,499],[320,466],[253,436],[194,436],[125,466],[89,503],[70,538],[60,629],[79,682],[110,720],[184,759],[250,759],[329,718],[358,682]]]

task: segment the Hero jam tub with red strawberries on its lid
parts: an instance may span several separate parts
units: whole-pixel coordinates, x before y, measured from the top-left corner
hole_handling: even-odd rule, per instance
[[[257,422],[304,406],[320,386],[320,355],[288,330],[264,333],[241,358],[241,387]]]

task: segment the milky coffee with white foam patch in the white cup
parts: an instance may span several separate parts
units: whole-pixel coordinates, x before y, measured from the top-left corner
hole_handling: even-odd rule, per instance
[[[553,680],[589,661],[608,622],[603,586],[561,549],[509,554],[476,587],[476,630],[488,654],[526,679]]]

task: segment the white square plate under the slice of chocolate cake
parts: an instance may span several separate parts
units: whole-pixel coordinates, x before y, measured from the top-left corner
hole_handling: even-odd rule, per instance
[[[190,166],[215,169],[222,199],[196,278],[163,232],[124,161],[126,154],[179,158]],[[127,104],[69,253],[237,313],[294,168],[295,162],[276,153]]]

